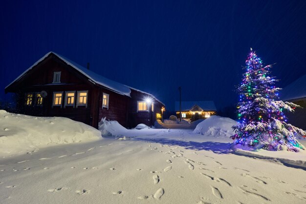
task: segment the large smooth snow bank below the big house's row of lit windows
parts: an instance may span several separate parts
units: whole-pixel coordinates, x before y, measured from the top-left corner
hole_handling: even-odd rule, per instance
[[[0,110],[0,154],[14,155],[38,148],[98,140],[93,127],[64,117],[34,117]]]

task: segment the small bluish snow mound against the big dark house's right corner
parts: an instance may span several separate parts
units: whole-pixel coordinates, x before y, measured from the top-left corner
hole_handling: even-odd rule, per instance
[[[106,117],[103,117],[99,122],[99,131],[104,137],[118,137],[120,133],[126,132],[127,129],[116,120],[106,120]]]

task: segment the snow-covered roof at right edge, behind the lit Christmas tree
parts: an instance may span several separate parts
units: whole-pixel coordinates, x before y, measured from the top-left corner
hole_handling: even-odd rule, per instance
[[[306,75],[295,80],[280,91],[280,98],[283,101],[304,97],[306,97]]]

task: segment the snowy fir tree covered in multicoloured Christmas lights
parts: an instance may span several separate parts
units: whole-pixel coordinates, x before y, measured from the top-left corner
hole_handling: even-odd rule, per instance
[[[261,58],[251,48],[246,60],[246,71],[238,88],[240,125],[233,126],[236,134],[231,138],[236,144],[256,149],[305,150],[296,136],[305,136],[306,133],[287,124],[284,115],[285,110],[294,112],[299,106],[279,100],[278,91],[281,89],[274,86],[277,80],[269,76],[271,67],[263,66]]]

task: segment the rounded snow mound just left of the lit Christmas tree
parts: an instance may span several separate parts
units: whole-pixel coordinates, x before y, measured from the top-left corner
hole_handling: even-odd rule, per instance
[[[229,137],[234,134],[232,126],[237,124],[238,122],[231,118],[212,115],[197,124],[193,133],[204,136]]]

